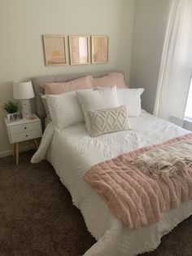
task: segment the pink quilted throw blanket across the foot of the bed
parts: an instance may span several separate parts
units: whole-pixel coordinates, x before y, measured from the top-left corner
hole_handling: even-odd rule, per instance
[[[190,146],[184,147],[187,142],[192,145],[192,134],[124,153],[92,166],[85,174],[85,180],[104,197],[112,213],[124,225],[139,228],[158,222],[166,211],[176,209],[181,202],[192,199],[192,151]],[[178,150],[178,145],[181,150]],[[161,157],[158,158],[156,154],[162,149],[164,152],[170,146],[176,148],[175,152],[179,152],[179,161],[177,165],[172,162],[162,165]],[[190,152],[186,159],[180,156],[183,148]],[[161,169],[155,165],[155,174],[154,167],[149,162],[143,164],[143,159],[147,159],[149,153],[159,159],[159,166],[163,166]],[[141,160],[142,167],[139,166]],[[150,171],[146,171],[146,166]],[[171,170],[170,166],[173,166]],[[182,170],[177,170],[180,166]],[[167,167],[168,174],[164,171]],[[158,172],[156,168],[159,168]]]

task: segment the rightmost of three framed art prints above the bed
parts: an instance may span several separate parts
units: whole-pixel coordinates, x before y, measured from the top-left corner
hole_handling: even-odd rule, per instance
[[[91,63],[104,64],[108,63],[109,53],[108,36],[91,36]]]

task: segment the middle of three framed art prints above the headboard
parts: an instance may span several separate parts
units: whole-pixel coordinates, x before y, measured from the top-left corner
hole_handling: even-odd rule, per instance
[[[89,64],[89,36],[68,36],[71,65]]]

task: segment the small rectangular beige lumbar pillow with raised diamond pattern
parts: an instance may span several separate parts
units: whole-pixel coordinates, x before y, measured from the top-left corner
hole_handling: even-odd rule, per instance
[[[87,112],[90,137],[108,134],[120,130],[129,130],[127,110],[125,106],[98,109]]]

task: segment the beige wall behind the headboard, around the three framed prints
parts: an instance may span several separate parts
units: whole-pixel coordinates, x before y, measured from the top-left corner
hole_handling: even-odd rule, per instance
[[[124,70],[129,82],[133,0],[1,0],[0,105],[12,99],[12,81],[44,74]],[[46,67],[42,34],[107,34],[109,64]],[[0,109],[0,154],[11,149]]]

